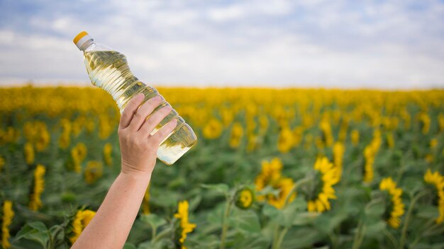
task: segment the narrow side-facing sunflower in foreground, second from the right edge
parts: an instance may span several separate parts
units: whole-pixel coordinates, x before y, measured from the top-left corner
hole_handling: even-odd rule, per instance
[[[396,183],[392,178],[382,179],[381,183],[379,183],[379,190],[387,191],[392,197],[391,208],[389,209],[389,215],[387,215],[389,216],[387,222],[393,228],[398,228],[401,224],[401,219],[399,219],[399,217],[405,212],[404,203],[402,203],[401,199],[402,190],[400,187],[396,187]]]

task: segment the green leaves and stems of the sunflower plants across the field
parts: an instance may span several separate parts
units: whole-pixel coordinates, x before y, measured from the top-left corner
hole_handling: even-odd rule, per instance
[[[389,98],[384,100],[389,101]],[[300,127],[304,123],[305,113],[299,110],[301,106],[281,107],[284,106],[296,113],[294,118],[288,120],[288,125],[292,128]],[[334,185],[336,198],[331,199],[331,209],[323,213],[308,212],[307,203],[310,199],[307,192],[311,185],[299,181],[307,175],[316,175],[313,173],[313,163],[317,156],[327,156],[333,161],[333,149],[316,146],[314,141],[320,137],[317,122],[321,115],[326,112],[331,115],[335,110],[340,110],[343,120],[353,115],[355,107],[344,105],[338,109],[332,103],[314,108],[316,105],[310,104],[306,112],[313,111],[316,122],[304,129],[301,143],[286,154],[277,149],[282,127],[270,113],[267,116],[270,118],[270,127],[260,137],[260,146],[253,151],[247,149],[246,136],[239,148],[229,146],[232,124],[223,129],[218,139],[204,139],[201,128],[196,129],[199,143],[177,163],[165,166],[157,162],[150,183],[150,214],[138,215],[124,248],[180,248],[179,222],[174,218],[174,213],[177,212],[177,203],[182,200],[189,202],[189,221],[196,224],[185,242],[188,248],[193,249],[399,248],[401,243],[404,243],[404,248],[444,248],[444,225],[435,223],[440,215],[437,193],[432,185],[423,180],[428,168],[444,173],[444,134],[438,128],[438,115],[443,112],[443,104],[428,105],[432,123],[431,131],[427,134],[421,132],[416,119],[421,108],[414,101],[392,107],[409,112],[409,128],[405,128],[402,121],[393,129],[374,127],[371,124],[372,117],[367,117],[369,114],[365,111],[362,111],[365,112],[362,120],[350,121],[344,141],[342,178]],[[384,109],[384,105],[380,109],[380,114],[387,117],[394,112]],[[216,108],[214,112],[217,117]],[[113,127],[111,136],[106,139],[99,138],[97,127],[92,132],[82,129],[77,137],[71,137],[67,149],[60,148],[60,120],[64,117],[73,120],[79,115],[72,112],[66,116],[60,114],[50,117],[28,115],[19,110],[0,112],[2,131],[7,127],[16,127],[22,131],[24,123],[40,120],[48,125],[51,134],[48,148],[36,152],[35,163],[30,166],[23,158],[26,139],[21,137],[0,146],[0,156],[5,161],[0,171],[0,203],[6,199],[11,200],[16,213],[9,227],[13,248],[70,248],[75,212],[85,208],[97,210],[120,172],[116,127]],[[98,123],[94,113],[89,113],[87,117],[93,123]],[[234,120],[246,127],[248,120],[245,110],[235,113]],[[190,125],[195,127],[192,122]],[[363,151],[372,141],[375,128],[381,129],[382,138],[392,133],[395,143],[391,148],[386,141],[382,142],[374,158],[374,179],[370,183],[362,183],[365,164]],[[332,122],[331,129],[333,139],[338,141],[340,122]],[[356,145],[350,139],[353,129],[360,133],[360,142]],[[309,137],[312,141],[309,141]],[[434,149],[430,146],[431,139],[438,141]],[[70,168],[70,149],[77,143],[87,145],[87,156],[80,165],[80,173]],[[87,184],[83,175],[86,163],[101,161],[106,143],[111,143],[113,147],[113,163],[109,167],[104,166],[104,174],[100,179]],[[428,155],[431,156],[429,161],[426,160]],[[294,190],[296,197],[282,209],[277,209],[266,200],[256,200],[248,209],[236,207],[235,193],[245,186],[256,197],[279,197],[279,189],[268,185],[255,191],[253,184],[260,173],[262,160],[274,157],[279,157],[283,163],[282,175],[292,178],[294,183],[301,183]],[[28,209],[28,202],[36,163],[43,164],[47,172],[45,190],[41,196],[43,207],[33,212]],[[405,213],[401,216],[399,228],[387,224],[390,197],[379,190],[380,181],[386,177],[392,177],[403,190],[401,199]],[[1,212],[0,216],[3,215]]]

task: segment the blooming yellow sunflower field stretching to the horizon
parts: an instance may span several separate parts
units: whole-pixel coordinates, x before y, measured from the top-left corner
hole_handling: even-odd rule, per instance
[[[444,248],[444,91],[157,90],[198,142],[157,162],[126,249]],[[0,88],[2,248],[70,248],[119,119],[98,88]]]

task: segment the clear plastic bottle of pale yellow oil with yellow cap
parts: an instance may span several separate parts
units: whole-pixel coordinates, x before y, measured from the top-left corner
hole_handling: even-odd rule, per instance
[[[139,81],[133,75],[125,55],[105,45],[95,43],[91,36],[84,31],[74,37],[74,43],[84,53],[84,63],[87,66],[91,83],[111,94],[113,99],[116,100],[121,113],[129,100],[138,93],[145,95],[144,102],[159,95],[154,87]],[[167,103],[165,100],[162,101],[153,112],[165,105],[170,105],[170,103]],[[157,150],[157,158],[167,165],[172,165],[172,163],[191,149],[197,141],[192,127],[174,109],[155,127],[151,134],[155,134],[157,130],[173,118],[177,119],[177,126],[168,135],[167,139],[160,143]]]

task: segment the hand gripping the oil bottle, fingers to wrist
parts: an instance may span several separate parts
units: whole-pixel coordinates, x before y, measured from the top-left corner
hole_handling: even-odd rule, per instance
[[[157,95],[140,105],[143,99],[143,93],[139,93],[130,100],[123,110],[118,125],[118,140],[122,156],[121,172],[124,174],[151,175],[160,142],[177,125],[177,119],[174,118],[151,136],[152,130],[170,114],[172,108],[170,105],[166,105],[146,119],[162,103],[162,97]]]

